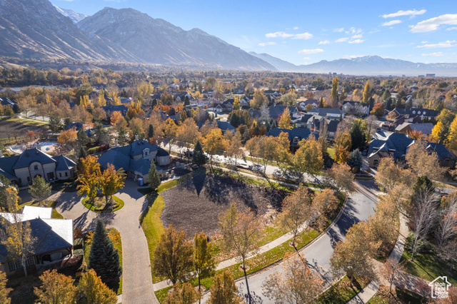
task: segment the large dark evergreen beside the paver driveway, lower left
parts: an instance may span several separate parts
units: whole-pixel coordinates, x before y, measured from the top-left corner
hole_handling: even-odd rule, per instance
[[[122,269],[119,263],[119,253],[114,248],[113,241],[106,233],[104,222],[99,218],[96,222],[94,236],[89,253],[89,268],[95,270],[109,288],[117,290]]]

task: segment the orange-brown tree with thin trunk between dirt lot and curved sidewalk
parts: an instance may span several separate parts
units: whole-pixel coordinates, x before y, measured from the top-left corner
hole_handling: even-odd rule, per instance
[[[219,216],[219,228],[221,229],[224,250],[226,252],[234,251],[236,256],[241,258],[249,303],[251,303],[246,258],[249,253],[255,253],[258,250],[259,240],[263,233],[261,223],[253,212],[241,213],[232,203],[229,210]]]

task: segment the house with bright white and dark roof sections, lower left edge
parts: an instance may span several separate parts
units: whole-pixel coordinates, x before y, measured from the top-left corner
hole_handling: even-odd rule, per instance
[[[52,208],[24,206],[22,213],[0,213],[2,225],[27,222],[30,225],[33,254],[26,260],[26,267],[44,268],[73,255],[73,220],[51,218]],[[6,276],[22,270],[21,260],[11,260],[6,247],[0,243],[0,271]]]

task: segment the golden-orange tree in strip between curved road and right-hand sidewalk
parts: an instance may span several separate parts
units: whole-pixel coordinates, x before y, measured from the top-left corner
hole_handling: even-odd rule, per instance
[[[348,229],[346,240],[336,244],[330,258],[331,270],[336,275],[346,273],[351,285],[355,276],[374,278],[376,275],[371,259],[376,255],[378,246],[371,240],[368,223],[356,223]]]

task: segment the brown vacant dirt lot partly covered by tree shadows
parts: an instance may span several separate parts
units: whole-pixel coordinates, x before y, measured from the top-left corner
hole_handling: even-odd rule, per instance
[[[248,208],[264,216],[281,207],[283,196],[271,188],[259,188],[224,176],[199,175],[161,193],[165,208],[161,221],[165,227],[182,227],[188,237],[203,230],[218,232],[218,216],[236,203],[238,210]]]

